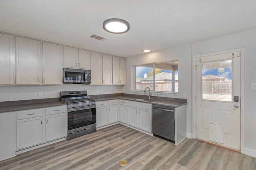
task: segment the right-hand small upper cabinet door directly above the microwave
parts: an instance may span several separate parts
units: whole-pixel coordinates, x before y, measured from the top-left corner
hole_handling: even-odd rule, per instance
[[[78,49],[78,68],[91,69],[91,56],[90,51]]]

